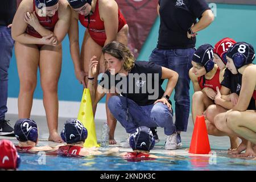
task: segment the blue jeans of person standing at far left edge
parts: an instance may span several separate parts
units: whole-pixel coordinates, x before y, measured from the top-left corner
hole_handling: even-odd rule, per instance
[[[8,69],[13,54],[13,46],[11,28],[0,26],[0,119],[5,119],[7,112]]]

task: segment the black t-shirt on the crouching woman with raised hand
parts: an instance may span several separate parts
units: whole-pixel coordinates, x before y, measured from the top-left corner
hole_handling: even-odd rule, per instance
[[[99,84],[105,89],[114,87],[122,96],[145,106],[154,104],[163,96],[161,77],[162,67],[159,65],[148,61],[135,61],[128,76],[110,75],[110,72],[106,71]]]

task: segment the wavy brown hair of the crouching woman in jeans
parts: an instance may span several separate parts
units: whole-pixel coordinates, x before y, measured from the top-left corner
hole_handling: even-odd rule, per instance
[[[110,42],[104,46],[102,52],[104,54],[108,53],[120,61],[123,60],[123,69],[125,71],[130,71],[134,67],[135,57],[130,49],[122,43],[117,41]]]

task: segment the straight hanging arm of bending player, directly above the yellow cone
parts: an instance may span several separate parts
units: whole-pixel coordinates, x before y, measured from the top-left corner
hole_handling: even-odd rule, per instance
[[[87,31],[87,30],[86,30]],[[78,14],[71,10],[71,23],[68,30],[69,49],[75,71],[81,71],[80,48],[79,48],[79,23]]]

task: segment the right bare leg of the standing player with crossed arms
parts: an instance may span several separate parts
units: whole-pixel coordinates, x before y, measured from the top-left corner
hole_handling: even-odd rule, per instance
[[[49,141],[62,142],[57,132],[59,100],[57,86],[60,78],[62,48],[59,46],[43,46],[40,50],[40,81],[43,89],[43,104],[49,129]]]

